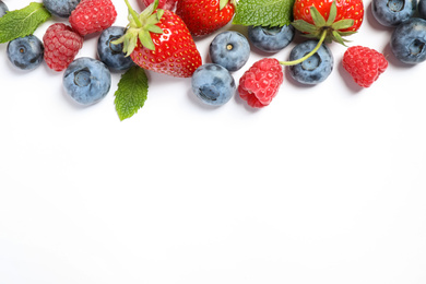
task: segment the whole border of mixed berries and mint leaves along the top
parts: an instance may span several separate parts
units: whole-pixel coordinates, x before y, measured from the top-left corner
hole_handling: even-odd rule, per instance
[[[295,81],[315,85],[330,75],[334,66],[328,47],[346,46],[364,20],[362,0],[141,0],[146,7],[129,10],[129,24],[116,26],[111,0],[43,0],[9,11],[0,0],[0,43],[8,43],[8,58],[19,69],[33,70],[42,62],[63,72],[67,94],[81,105],[103,99],[110,91],[110,71],[120,71],[115,92],[121,120],[132,117],[147,95],[145,71],[190,78],[193,94],[212,106],[239,95],[250,107],[271,104],[288,68]],[[404,63],[426,60],[426,0],[372,0],[374,17],[393,27],[390,47]],[[51,16],[68,19],[52,23],[42,40],[33,35]],[[227,24],[247,26],[248,36],[223,31],[212,37],[209,58],[202,62],[194,39],[206,37]],[[12,28],[21,26],[21,28]],[[306,36],[289,54],[288,61],[273,58],[295,34]],[[81,57],[84,37],[97,34],[98,59]],[[245,68],[250,46],[271,55],[247,68],[238,82],[233,72]],[[386,57],[369,47],[351,46],[342,58],[344,70],[360,87],[369,87],[388,68]]]

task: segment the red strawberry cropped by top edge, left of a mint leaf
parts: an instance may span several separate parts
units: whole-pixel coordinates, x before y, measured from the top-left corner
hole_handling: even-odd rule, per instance
[[[192,36],[209,35],[233,20],[235,0],[179,0],[176,8]]]

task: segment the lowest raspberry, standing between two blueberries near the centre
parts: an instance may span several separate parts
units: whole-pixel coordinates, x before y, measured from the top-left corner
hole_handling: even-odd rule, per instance
[[[263,58],[255,62],[240,78],[239,96],[251,107],[268,106],[279,93],[283,79],[283,68],[279,60]]]

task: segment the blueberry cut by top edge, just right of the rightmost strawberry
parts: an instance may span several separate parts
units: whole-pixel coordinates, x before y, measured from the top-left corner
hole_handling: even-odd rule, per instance
[[[411,19],[417,9],[417,0],[372,0],[371,12],[384,26],[397,26]]]

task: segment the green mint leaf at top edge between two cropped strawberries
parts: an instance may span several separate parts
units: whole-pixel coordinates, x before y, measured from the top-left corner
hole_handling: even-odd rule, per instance
[[[289,25],[294,0],[239,0],[233,24],[253,26]]]

